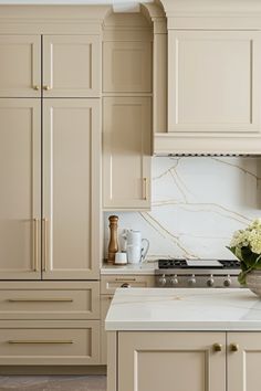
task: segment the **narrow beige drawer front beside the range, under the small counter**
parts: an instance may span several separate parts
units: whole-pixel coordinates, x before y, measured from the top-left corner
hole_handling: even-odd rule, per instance
[[[103,295],[114,294],[116,288],[126,287],[126,288],[146,288],[155,286],[155,277],[149,276],[138,276],[138,275],[111,275],[102,276],[101,279],[101,293]]]

